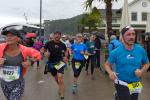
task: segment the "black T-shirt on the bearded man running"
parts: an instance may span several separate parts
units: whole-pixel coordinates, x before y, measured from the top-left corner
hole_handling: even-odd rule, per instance
[[[46,43],[44,49],[50,52],[49,63],[55,63],[63,60],[63,57],[67,50],[64,43],[54,41]]]

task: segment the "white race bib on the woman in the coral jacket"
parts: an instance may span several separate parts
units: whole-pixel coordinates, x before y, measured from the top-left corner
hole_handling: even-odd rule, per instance
[[[20,78],[20,66],[4,66],[0,68],[0,78],[6,82],[11,82]]]

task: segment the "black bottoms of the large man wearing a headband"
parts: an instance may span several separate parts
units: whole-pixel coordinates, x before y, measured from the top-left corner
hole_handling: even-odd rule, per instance
[[[138,100],[138,93],[130,95],[129,89],[126,86],[115,84],[119,100]]]

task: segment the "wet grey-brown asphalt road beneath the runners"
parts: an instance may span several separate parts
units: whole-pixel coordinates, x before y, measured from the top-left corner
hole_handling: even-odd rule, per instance
[[[23,100],[60,100],[58,86],[51,74],[44,75],[44,61],[40,69],[30,67],[25,76],[25,92]],[[75,95],[71,92],[72,69],[65,71],[65,100],[114,100],[113,82],[99,69],[95,71],[95,80],[86,75],[83,68],[78,82],[78,91]],[[139,100],[150,100],[150,72],[145,73],[142,79],[144,88]],[[0,89],[0,100],[6,100]]]

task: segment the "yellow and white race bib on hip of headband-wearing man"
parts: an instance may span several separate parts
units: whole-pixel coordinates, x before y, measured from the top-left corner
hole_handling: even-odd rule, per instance
[[[143,86],[142,86],[141,82],[135,82],[135,83],[128,84],[130,94],[141,93],[142,87]]]

